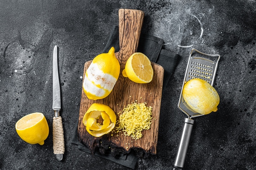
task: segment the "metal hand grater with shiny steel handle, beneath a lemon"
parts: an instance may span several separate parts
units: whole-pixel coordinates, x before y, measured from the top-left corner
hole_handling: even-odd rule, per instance
[[[207,58],[197,56],[193,57],[192,55],[194,54],[194,51],[196,51],[197,54],[199,53],[200,55],[207,56]],[[210,57],[212,57],[213,60],[209,59]],[[178,144],[178,150],[174,161],[174,170],[180,170],[184,166],[190,135],[194,123],[194,120],[192,118],[197,116],[203,116],[203,114],[193,111],[184,101],[182,96],[184,84],[190,79],[199,78],[205,80],[213,86],[213,82],[216,76],[216,71],[219,63],[219,58],[219,54],[205,54],[203,52],[196,50],[195,48],[193,48],[190,52],[190,57],[187,62],[187,70],[181,88],[181,95],[178,102],[178,108],[183,113],[185,113],[188,116],[188,118],[185,118],[184,120],[181,138]]]

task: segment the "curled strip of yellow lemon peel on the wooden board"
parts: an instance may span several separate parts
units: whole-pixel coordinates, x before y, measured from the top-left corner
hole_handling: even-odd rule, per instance
[[[97,122],[100,118],[103,119],[102,124]],[[93,103],[83,116],[83,125],[86,126],[87,132],[95,137],[109,133],[115,127],[115,123],[115,112],[109,106],[100,103]]]

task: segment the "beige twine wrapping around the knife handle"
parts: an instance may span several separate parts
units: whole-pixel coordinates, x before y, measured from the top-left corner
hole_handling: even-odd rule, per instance
[[[62,126],[62,118],[60,116],[53,117],[52,123],[53,153],[64,154],[64,134]]]

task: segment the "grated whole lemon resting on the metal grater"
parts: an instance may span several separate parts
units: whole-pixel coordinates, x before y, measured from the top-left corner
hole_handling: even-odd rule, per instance
[[[197,113],[209,114],[218,110],[218,92],[202,79],[191,79],[186,82],[182,96],[187,105]]]

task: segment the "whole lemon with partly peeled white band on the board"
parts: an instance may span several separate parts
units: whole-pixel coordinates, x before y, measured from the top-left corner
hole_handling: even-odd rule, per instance
[[[88,99],[103,99],[110,94],[120,74],[120,64],[115,57],[115,48],[96,56],[83,80],[83,91]]]

